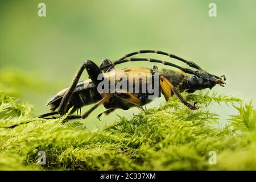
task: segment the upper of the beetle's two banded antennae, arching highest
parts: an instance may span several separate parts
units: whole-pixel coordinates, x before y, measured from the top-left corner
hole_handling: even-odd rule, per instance
[[[195,68],[195,69],[201,69],[199,67],[199,65],[197,65],[196,63],[193,63],[192,61],[187,61],[179,56],[175,56],[171,53],[167,53],[167,52],[163,52],[163,51],[155,51],[155,50],[141,50],[141,51],[136,51],[136,52],[131,52],[131,53],[128,53],[127,55],[121,57],[120,59],[118,59],[117,61],[120,61],[120,60],[123,60],[123,59],[126,59],[127,57],[131,57],[131,56],[134,56],[134,55],[138,55],[140,53],[157,53],[159,55],[165,55],[165,56],[169,56],[169,57],[172,57],[174,59],[177,59],[177,60],[180,60],[182,61],[183,63],[189,65],[189,67],[192,67],[192,68]]]

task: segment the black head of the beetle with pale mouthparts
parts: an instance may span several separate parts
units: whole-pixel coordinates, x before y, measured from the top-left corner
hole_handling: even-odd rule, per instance
[[[218,77],[215,75],[211,75],[203,71],[202,69],[197,71],[197,73],[199,73],[198,76],[191,75],[188,78],[188,85],[191,92],[206,88],[212,89],[215,85],[224,86],[226,84],[224,82],[226,80],[225,75]]]

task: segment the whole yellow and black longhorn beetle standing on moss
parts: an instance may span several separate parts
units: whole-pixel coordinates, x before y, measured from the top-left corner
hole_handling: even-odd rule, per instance
[[[141,53],[157,53],[160,55],[166,55],[176,60],[182,61],[183,63],[189,65],[189,67],[195,68],[196,71],[192,69],[183,68],[179,65],[170,63],[168,61],[162,61],[157,59],[148,59],[148,58],[133,58],[131,56],[141,54]],[[158,69],[156,65],[154,65],[151,69],[146,67],[130,67],[125,69],[114,69],[115,65],[126,63],[129,61],[149,61],[151,63],[160,63],[167,66],[175,67],[180,69],[178,71],[172,71],[170,69]],[[82,72],[86,69],[89,75],[88,80],[84,80],[79,82]],[[119,92],[115,93],[99,93],[97,90],[97,86],[100,84],[101,80],[98,80],[98,76],[104,71],[105,76],[111,76],[117,73],[122,73],[127,75],[129,73],[150,73],[151,77],[157,73],[159,75],[159,96],[160,93],[163,93],[166,101],[174,94],[180,99],[180,101],[189,107],[189,109],[196,110],[198,109],[195,104],[191,105],[181,96],[180,92],[184,92],[185,90],[189,93],[193,93],[196,90],[201,89],[212,89],[215,85],[224,86],[226,77],[224,75],[218,77],[215,75],[211,75],[201,69],[197,64],[192,61],[187,61],[181,57],[172,55],[170,53],[162,52],[162,51],[154,51],[154,50],[141,50],[136,52],[131,52],[121,59],[114,61],[113,63],[105,59],[100,67],[98,67],[93,61],[86,60],[79,71],[76,73],[75,78],[71,85],[68,88],[65,88],[55,94],[47,103],[47,105],[51,106],[51,113],[42,114],[39,118],[48,118],[51,115],[64,115],[67,111],[73,107],[71,113],[74,113],[76,110],[78,111],[81,107],[85,105],[94,104],[88,111],[86,111],[82,115],[68,115],[68,119],[75,118],[86,118],[94,109],[96,109],[99,105],[103,104],[104,107],[108,110],[98,115],[98,118],[102,114],[109,114],[115,109],[123,109],[127,110],[133,106],[142,106],[148,104],[151,100],[148,99],[150,93],[130,93],[127,90],[119,90]],[[223,78],[223,80],[222,80]],[[154,79],[151,79],[154,80]],[[115,80],[115,84],[121,80]],[[143,81],[139,82],[139,84],[143,84]],[[57,111],[55,111],[57,110]],[[51,117],[51,118],[56,118]]]

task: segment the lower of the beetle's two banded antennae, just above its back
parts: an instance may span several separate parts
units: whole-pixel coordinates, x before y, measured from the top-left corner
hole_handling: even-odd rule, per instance
[[[168,65],[170,67],[175,67],[177,69],[180,69],[181,71],[185,72],[185,73],[189,73],[189,74],[192,74],[192,75],[196,75],[198,77],[200,77],[199,73],[191,70],[191,69],[188,69],[188,68],[182,68],[176,64],[173,64],[173,63],[170,63],[170,62],[167,62],[167,61],[162,61],[162,60],[158,60],[158,59],[148,59],[148,58],[128,58],[128,59],[123,59],[123,60],[117,60],[117,61],[114,61],[114,63],[112,64],[108,64],[108,65],[105,65],[104,67],[101,67],[100,69],[106,69],[106,68],[109,68],[109,67],[113,67],[114,65],[117,65],[117,64],[121,64],[121,63],[126,63],[126,62],[129,62],[129,61],[149,61],[149,62],[152,62],[152,63],[161,63],[161,64],[164,64],[164,65]]]

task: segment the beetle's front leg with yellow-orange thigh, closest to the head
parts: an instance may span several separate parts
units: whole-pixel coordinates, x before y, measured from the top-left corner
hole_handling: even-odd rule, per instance
[[[175,86],[172,85],[171,82],[170,82],[166,77],[164,77],[163,75],[160,76],[160,86],[161,86],[161,89],[162,89],[164,98],[166,98],[166,101],[169,100],[169,98],[172,96],[172,92],[173,92],[174,94],[176,94],[176,96],[180,99],[180,101],[181,101],[185,106],[188,106],[188,107],[189,107],[189,109],[192,109],[192,110],[199,109],[198,107],[195,107],[195,104],[196,104],[197,102],[194,103],[194,106],[192,106],[191,104],[189,104],[189,103],[181,96],[181,94],[180,94],[179,91],[175,88]]]

